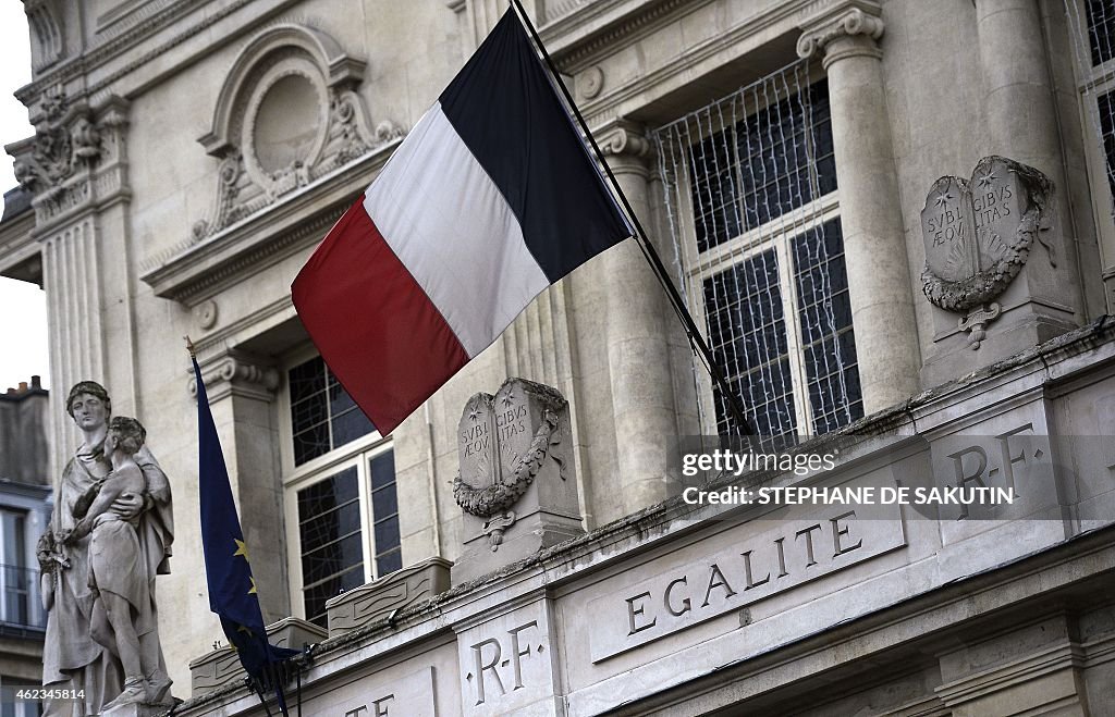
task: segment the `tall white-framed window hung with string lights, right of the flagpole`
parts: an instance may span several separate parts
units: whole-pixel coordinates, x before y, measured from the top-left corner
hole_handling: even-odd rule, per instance
[[[797,62],[656,139],[690,308],[758,433],[862,416],[827,82]],[[702,393],[706,430],[737,433],[719,389]]]

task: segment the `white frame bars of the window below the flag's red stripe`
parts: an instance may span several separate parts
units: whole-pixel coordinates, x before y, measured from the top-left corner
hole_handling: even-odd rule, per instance
[[[375,430],[310,459],[301,465],[294,464],[294,429],[291,422],[289,372],[291,369],[318,357],[320,354],[314,351],[312,345],[309,345],[289,354],[279,366],[282,376],[278,407],[280,412],[279,440],[281,443],[283,517],[285,524],[292,527],[291,530],[287,531],[287,572],[291,595],[291,613],[303,620],[309,620],[312,616],[306,615],[306,585],[302,580],[302,536],[298,514],[298,492],[350,466],[356,466],[360,504],[360,543],[363,551],[363,583],[367,585],[382,577],[376,574],[376,515],[372,512],[372,491],[368,466],[372,459],[395,450],[391,436],[384,438],[378,430]],[[401,558],[401,540],[399,548]]]

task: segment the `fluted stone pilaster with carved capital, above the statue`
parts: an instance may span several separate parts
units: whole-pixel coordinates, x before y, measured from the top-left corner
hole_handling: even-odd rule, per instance
[[[119,238],[130,197],[125,139],[127,102],[98,107],[46,92],[32,108],[35,137],[9,145],[16,177],[33,193],[33,235],[42,246],[47,295],[52,434],[50,474],[59,475],[80,442],[66,416],[71,385],[93,380],[113,396],[113,412],[137,413],[130,295]],[[112,346],[112,356],[108,355]],[[110,360],[109,360],[110,358]],[[65,419],[65,420],[64,420]]]

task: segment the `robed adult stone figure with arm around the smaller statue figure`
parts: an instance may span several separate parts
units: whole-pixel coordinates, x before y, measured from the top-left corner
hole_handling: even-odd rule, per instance
[[[138,587],[129,592],[139,597],[126,609],[133,611],[139,662],[147,666],[147,674],[125,675],[120,641],[93,571],[93,536],[80,534],[81,530],[77,536],[74,532],[113,471],[113,456],[104,450],[112,402],[104,386],[83,381],[70,390],[66,411],[81,431],[84,442],[62,470],[50,524],[39,541],[42,600],[48,610],[42,684],[78,697],[47,700],[45,715],[99,715],[125,691],[130,695],[127,701],[169,704],[171,680],[158,642],[155,602],[155,576],[169,572],[173,541],[169,482],[144,445],[130,456],[142,472],[144,490],[120,491],[105,510],[134,528],[138,546],[137,556],[129,556],[136,563]],[[113,557],[100,559],[110,561]],[[129,665],[135,664],[130,655],[127,658]]]

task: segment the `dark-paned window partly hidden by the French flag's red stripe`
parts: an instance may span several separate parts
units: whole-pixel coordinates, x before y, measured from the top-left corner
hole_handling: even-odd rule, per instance
[[[320,357],[292,366],[287,389],[292,591],[324,626],[327,600],[403,567],[395,456]]]

